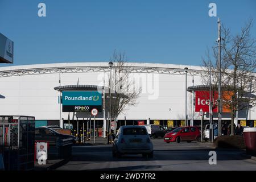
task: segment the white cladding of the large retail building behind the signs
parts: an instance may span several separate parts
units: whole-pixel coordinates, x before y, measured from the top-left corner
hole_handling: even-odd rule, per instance
[[[49,67],[84,67],[85,65],[106,66],[106,63],[64,63],[2,67],[0,71]],[[172,64],[131,63],[136,67],[160,67],[201,69],[201,67]],[[103,72],[61,73],[61,85],[103,85]],[[108,77],[108,73],[105,73]],[[158,73],[133,73],[139,79],[135,84],[142,86],[136,106],[127,108],[119,119],[185,119],[185,74],[168,75]],[[201,85],[201,76],[195,76],[195,85]],[[0,77],[1,115],[34,115],[38,120],[59,120],[59,73]],[[192,76],[187,75],[187,86],[192,86]],[[187,114],[191,118],[192,94],[187,92]],[[171,111],[170,111],[171,108]],[[63,113],[67,119],[68,113]],[[199,113],[194,113],[200,119]],[[249,118],[250,117],[250,118]],[[250,109],[248,119],[256,120],[255,107]],[[245,119],[245,118],[239,118]]]

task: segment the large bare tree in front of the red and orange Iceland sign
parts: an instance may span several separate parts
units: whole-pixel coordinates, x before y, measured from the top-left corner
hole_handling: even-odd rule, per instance
[[[221,85],[222,108],[230,110],[231,135],[234,135],[234,118],[236,111],[254,106],[256,98],[256,40],[251,37],[252,19],[241,29],[240,34],[232,36],[230,30],[222,26],[222,59],[221,59]],[[213,47],[213,60],[209,51],[207,59],[203,59],[206,69],[211,67],[213,72],[213,90],[217,90],[217,47]],[[206,80],[203,78],[203,82]]]

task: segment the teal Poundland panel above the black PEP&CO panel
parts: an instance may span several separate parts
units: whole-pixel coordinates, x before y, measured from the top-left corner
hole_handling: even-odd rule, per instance
[[[101,106],[101,91],[63,91],[63,106]]]

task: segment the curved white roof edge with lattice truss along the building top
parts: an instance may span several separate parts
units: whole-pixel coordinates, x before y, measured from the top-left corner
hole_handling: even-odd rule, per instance
[[[188,69],[184,69],[186,67]],[[130,73],[159,73],[168,75],[185,75],[185,73],[188,73],[188,75],[194,76],[202,76],[205,75],[205,73],[208,73],[204,67],[158,63],[126,63],[123,67],[123,71]],[[0,68],[0,77],[83,72],[109,72],[109,65],[106,62],[85,62],[11,66]]]

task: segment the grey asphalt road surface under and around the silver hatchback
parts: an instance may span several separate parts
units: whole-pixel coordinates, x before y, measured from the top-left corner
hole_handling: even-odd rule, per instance
[[[243,150],[216,150],[211,143],[152,141],[153,159],[142,155],[113,158],[111,144],[74,146],[72,159],[57,170],[256,170],[256,161],[243,156]],[[216,165],[209,164],[209,151],[216,151]]]

